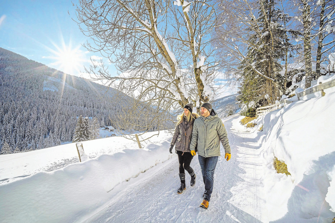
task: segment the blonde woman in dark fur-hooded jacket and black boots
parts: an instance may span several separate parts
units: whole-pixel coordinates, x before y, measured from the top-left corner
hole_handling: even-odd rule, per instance
[[[190,167],[193,155],[190,150],[190,143],[192,137],[193,123],[196,118],[199,117],[198,114],[193,113],[193,104],[186,104],[184,106],[184,111],[178,116],[177,126],[175,134],[171,142],[170,153],[172,153],[173,146],[176,144],[176,153],[178,154],[179,160],[179,177],[180,177],[180,188],[177,193],[181,194],[186,189],[185,183],[185,170],[191,176],[191,187],[195,184],[195,173]]]

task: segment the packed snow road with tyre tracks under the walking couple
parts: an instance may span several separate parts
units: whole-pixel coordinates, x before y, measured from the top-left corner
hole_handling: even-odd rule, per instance
[[[207,210],[199,208],[204,183],[197,155],[191,162],[197,174],[196,184],[190,187],[190,176],[186,174],[183,194],[177,194],[180,181],[175,156],[151,177],[131,179],[127,183],[134,180],[132,187],[127,187],[121,196],[85,222],[266,222],[259,189],[262,172],[259,145],[255,135],[247,132],[239,120],[238,115],[223,120],[232,158],[227,162],[224,156],[219,157]]]

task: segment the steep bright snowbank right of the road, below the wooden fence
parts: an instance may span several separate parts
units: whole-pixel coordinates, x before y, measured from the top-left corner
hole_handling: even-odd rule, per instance
[[[335,191],[335,92],[296,101],[256,120],[269,221],[329,222]],[[273,159],[291,175],[277,173]],[[326,202],[324,202],[326,200]],[[280,219],[280,220],[278,220]]]

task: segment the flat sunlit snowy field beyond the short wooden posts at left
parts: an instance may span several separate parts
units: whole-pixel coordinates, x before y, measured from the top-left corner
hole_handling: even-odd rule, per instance
[[[108,131],[100,131],[107,132]],[[108,132],[113,134],[113,132]],[[151,136],[156,134],[146,133]],[[171,134],[160,132],[158,137],[152,137],[150,141],[142,143],[143,146],[163,143]],[[108,137],[82,142],[85,154],[93,159],[102,154],[113,155],[124,153],[125,149],[138,149],[137,142],[121,136]],[[0,185],[7,184],[36,173],[63,168],[69,164],[78,163],[78,152],[75,143],[68,143],[60,146],[30,151],[13,153],[0,156]]]

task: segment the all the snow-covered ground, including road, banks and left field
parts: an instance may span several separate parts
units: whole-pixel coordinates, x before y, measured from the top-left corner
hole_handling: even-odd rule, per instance
[[[208,210],[198,207],[204,185],[197,155],[195,186],[187,175],[186,191],[176,193],[178,160],[167,132],[143,149],[122,137],[83,142],[90,157],[83,163],[74,144],[1,155],[0,178],[8,178],[0,185],[1,221],[330,223],[334,101],[327,93],[293,102],[256,119],[254,128],[242,126],[239,115],[224,119],[232,158],[219,158]],[[291,175],[275,171],[274,156]]]

